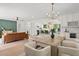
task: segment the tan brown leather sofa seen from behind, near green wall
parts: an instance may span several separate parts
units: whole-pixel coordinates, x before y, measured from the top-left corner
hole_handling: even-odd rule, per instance
[[[13,33],[7,33],[4,35],[4,43],[9,43],[13,41],[28,39],[28,34],[25,32],[13,32]]]

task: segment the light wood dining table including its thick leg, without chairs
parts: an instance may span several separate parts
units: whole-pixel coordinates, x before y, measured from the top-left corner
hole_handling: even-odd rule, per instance
[[[64,40],[64,37],[62,36],[55,36],[53,39],[50,37],[50,35],[42,35],[42,36],[35,36],[32,37],[33,41],[36,43],[41,43],[45,45],[51,46],[51,55],[57,56],[58,55],[58,48],[57,46],[62,45],[62,41]]]

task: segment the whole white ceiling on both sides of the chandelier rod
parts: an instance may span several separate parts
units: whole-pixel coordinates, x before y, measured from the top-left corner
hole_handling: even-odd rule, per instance
[[[46,17],[50,3],[0,3],[0,16]],[[79,12],[78,3],[54,3],[54,11],[60,15]]]

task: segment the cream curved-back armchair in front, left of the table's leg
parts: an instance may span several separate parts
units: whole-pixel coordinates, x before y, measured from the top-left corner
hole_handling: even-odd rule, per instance
[[[51,47],[50,46],[46,46],[42,49],[36,49],[35,42],[28,42],[24,46],[25,46],[26,56],[50,56],[51,55]]]

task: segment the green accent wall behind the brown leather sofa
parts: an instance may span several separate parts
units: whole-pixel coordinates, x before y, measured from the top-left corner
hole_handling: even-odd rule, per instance
[[[5,30],[12,30],[13,32],[17,31],[17,22],[11,20],[0,19],[0,31],[2,31],[1,27]]]

